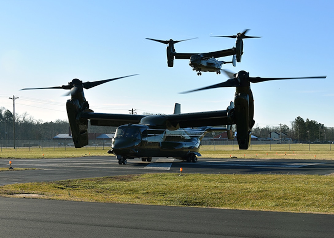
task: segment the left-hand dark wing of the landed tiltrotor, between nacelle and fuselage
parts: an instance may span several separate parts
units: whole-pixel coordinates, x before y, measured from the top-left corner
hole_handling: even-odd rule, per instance
[[[129,123],[138,124],[145,115],[83,112],[80,117],[90,119],[92,126],[121,126]]]

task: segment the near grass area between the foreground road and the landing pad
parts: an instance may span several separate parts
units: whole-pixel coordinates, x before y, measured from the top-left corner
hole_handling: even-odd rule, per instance
[[[1,196],[334,214],[334,176],[143,174],[0,187]]]

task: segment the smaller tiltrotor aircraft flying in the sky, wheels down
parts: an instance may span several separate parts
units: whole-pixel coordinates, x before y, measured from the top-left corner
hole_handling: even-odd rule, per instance
[[[232,63],[235,66],[235,61],[241,62],[241,55],[243,54],[243,41],[242,39],[245,38],[259,38],[258,36],[246,36],[246,32],[249,29],[244,30],[242,33],[238,33],[232,36],[215,36],[215,37],[229,37],[229,38],[236,38],[235,47],[226,50],[219,50],[213,52],[206,52],[206,53],[177,53],[174,48],[174,44],[192,40],[178,40],[174,41],[170,40],[157,40],[152,38],[146,38],[148,40],[157,41],[163,44],[167,44],[167,65],[168,67],[173,67],[174,65],[174,58],[175,59],[188,59],[189,65],[192,67],[192,70],[197,72],[197,75],[202,75],[201,72],[216,72],[220,74],[220,70],[223,64]],[[232,55],[232,61],[219,61],[216,58],[225,57]]]

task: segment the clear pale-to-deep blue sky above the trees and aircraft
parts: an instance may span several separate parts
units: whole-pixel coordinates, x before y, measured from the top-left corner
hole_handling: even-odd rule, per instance
[[[67,120],[65,90],[27,87],[103,80],[139,74],[85,91],[95,112],[171,114],[226,109],[234,88],[179,94],[227,80],[197,76],[188,60],[167,67],[166,45],[146,40],[183,40],[179,53],[228,49],[233,35],[251,29],[242,62],[233,72],[250,76],[326,79],[252,84],[256,126],[291,127],[298,116],[334,127],[334,1],[83,1],[0,0],[0,106],[43,122]],[[219,58],[229,61],[231,57]]]

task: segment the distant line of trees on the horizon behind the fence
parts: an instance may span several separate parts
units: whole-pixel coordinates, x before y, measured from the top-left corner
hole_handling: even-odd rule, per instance
[[[54,122],[42,122],[30,116],[27,112],[15,113],[15,138],[19,140],[50,140],[58,134],[69,132],[69,123],[66,120],[57,119]],[[89,133],[112,133],[116,127],[88,126]],[[292,123],[291,128],[281,126],[255,126],[252,134],[257,137],[268,138],[271,132],[283,132],[295,142],[319,142],[334,141],[334,128],[326,127],[315,120],[304,120],[300,116]],[[13,114],[4,107],[0,108],[0,139],[13,139]]]

